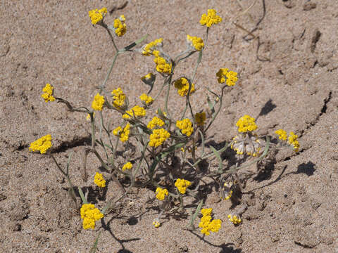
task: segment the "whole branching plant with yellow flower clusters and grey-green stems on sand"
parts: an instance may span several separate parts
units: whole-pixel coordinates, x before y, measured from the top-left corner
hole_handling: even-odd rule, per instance
[[[187,197],[187,195],[189,195],[189,197],[195,197],[195,199],[201,198],[199,197],[199,194],[195,193],[200,189],[199,186],[201,185],[199,181],[201,181],[200,179],[203,176],[215,175],[214,179],[215,181],[217,181],[217,183],[219,183],[220,186],[221,198],[223,200],[234,200],[234,197],[237,196],[237,188],[238,190],[240,190],[241,188],[240,185],[238,185],[237,187],[236,184],[242,183],[238,180],[242,172],[241,163],[242,161],[244,161],[244,159],[242,158],[245,155],[249,155],[252,157],[259,156],[253,162],[261,162],[261,160],[263,160],[263,157],[268,152],[270,146],[275,145],[275,143],[270,143],[269,136],[267,136],[266,142],[263,141],[263,139],[258,138],[258,135],[255,132],[258,129],[258,126],[256,125],[256,119],[249,115],[244,115],[243,117],[240,117],[238,119],[236,123],[238,134],[237,136],[234,136],[234,138],[232,138],[232,141],[230,143],[230,147],[232,148],[232,150],[237,153],[236,156],[239,156],[242,159],[239,160],[239,162],[234,166],[234,170],[224,169],[222,166],[223,161],[220,161],[218,171],[213,170],[214,168],[208,169],[206,173],[210,172],[211,174],[204,175],[204,173],[201,173],[203,171],[199,170],[200,168],[197,166],[201,165],[199,164],[199,162],[206,160],[206,158],[211,156],[218,157],[221,160],[220,153],[227,148],[226,145],[220,150],[215,150],[215,148],[210,146],[210,149],[213,151],[213,153],[204,155],[204,149],[209,148],[208,145],[205,145],[204,140],[205,138],[210,137],[206,132],[209,129],[209,126],[211,126],[211,124],[215,121],[215,117],[217,117],[218,112],[221,111],[224,89],[228,89],[227,86],[234,86],[237,84],[237,72],[229,70],[225,67],[220,68],[216,73],[216,77],[218,83],[223,84],[217,88],[221,89],[221,95],[218,96],[219,93],[208,89],[208,91],[210,91],[213,96],[215,96],[215,98],[207,98],[207,110],[203,111],[201,110],[201,108],[199,108],[199,110],[196,110],[196,108],[192,106],[192,103],[190,103],[191,100],[189,100],[189,98],[190,95],[195,91],[195,85],[193,82],[196,83],[196,79],[194,79],[194,77],[196,77],[196,70],[198,69],[198,65],[201,61],[202,55],[204,53],[204,48],[208,40],[205,39],[204,41],[203,39],[201,39],[201,37],[193,37],[187,34],[187,48],[178,53],[175,57],[170,57],[168,53],[163,50],[162,38],[155,39],[154,41],[145,44],[141,48],[135,49],[134,46],[139,45],[146,38],[146,36],[144,36],[141,39],[132,42],[132,44],[129,44],[119,49],[117,46],[118,44],[115,44],[115,39],[118,38],[113,37],[110,31],[115,32],[115,35],[117,37],[123,36],[127,31],[127,25],[125,25],[125,16],[120,15],[119,18],[116,18],[113,21],[113,25],[106,25],[104,23],[104,17],[106,13],[106,8],[94,9],[92,11],[89,11],[89,17],[92,21],[92,24],[101,25],[101,27],[104,27],[104,29],[108,31],[108,34],[113,41],[113,47],[116,51],[116,54],[113,58],[113,63],[108,71],[104,84],[97,87],[98,91],[94,96],[94,100],[92,100],[92,109],[88,109],[85,107],[73,108],[73,106],[68,103],[68,101],[63,100],[62,98],[54,97],[54,87],[51,86],[51,84],[46,84],[46,86],[44,86],[42,90],[44,92],[42,94],[42,98],[44,98],[44,101],[49,102],[57,100],[58,102],[65,103],[68,106],[68,109],[73,112],[82,112],[86,115],[89,115],[89,119],[92,120],[92,147],[86,149],[86,152],[92,152],[96,155],[99,162],[101,162],[101,165],[106,169],[106,173],[110,172],[111,179],[114,179],[117,185],[123,188],[123,190],[125,190],[126,184],[119,183],[118,180],[121,179],[121,175],[123,175],[123,178],[126,177],[128,180],[130,180],[130,188],[137,187],[139,185],[145,186],[148,184],[156,187],[156,199],[161,201],[158,202],[161,212],[158,218],[156,218],[153,222],[153,225],[156,228],[161,226],[161,223],[159,221],[161,214],[163,214],[163,212],[168,212],[168,210],[172,212],[176,208],[173,207],[173,203],[175,203],[176,205],[176,203],[178,203],[177,200],[179,200],[180,202],[179,208],[184,208],[187,207],[187,205],[184,205],[184,199]],[[212,25],[218,24],[221,21],[222,18],[220,18],[220,16],[217,15],[216,11],[213,9],[209,9],[207,13],[201,15],[201,20],[199,22],[201,25],[206,26],[206,38],[208,38],[208,32],[210,31]],[[111,70],[113,70],[113,65],[115,64],[116,58],[122,53],[130,53],[136,51],[142,53],[143,56],[154,56],[156,71],[160,73],[157,75],[160,79],[163,79],[163,86],[158,91],[156,96],[154,96],[155,99],[152,98],[149,94],[153,89],[155,81],[158,80],[156,80],[156,75],[151,72],[144,75],[141,80],[142,82],[144,82],[144,84],[151,86],[151,89],[148,91],[148,93],[140,93],[141,96],[139,96],[139,99],[142,102],[142,106],[135,105],[131,108],[129,105],[128,97],[123,92],[123,89],[121,89],[120,87],[111,91],[112,99],[111,97],[106,97],[103,95],[108,94],[105,85],[107,80],[109,79]],[[176,71],[175,67],[177,67],[177,65],[185,58],[194,55],[196,51],[199,51],[199,58],[197,60],[196,67],[194,68],[192,77],[186,77],[183,74],[178,76],[177,79],[173,79],[174,70],[175,74],[179,72]],[[164,107],[159,107],[158,110],[156,110],[156,114],[158,117],[151,116],[152,119],[149,121],[148,124],[146,124],[142,117],[146,117],[146,114],[149,115],[151,114],[151,112],[155,111],[156,108],[151,107],[156,104],[154,103],[156,98],[163,96],[163,87],[165,86],[168,87],[167,93],[165,94],[165,105]],[[170,87],[172,86],[175,86],[175,89],[177,89],[177,93],[179,94],[179,96],[184,97],[184,99],[186,100],[186,108],[182,110],[182,115],[181,117],[179,117],[180,120],[174,119],[171,115],[175,115],[176,112],[170,113],[170,110],[173,111],[173,108],[168,108],[168,97],[170,94]],[[121,125],[118,127],[113,126],[111,128],[111,125],[115,124],[115,122],[107,123],[106,121],[104,121],[104,115],[106,114],[99,112],[100,127],[99,138],[97,138],[96,124],[98,123],[98,120],[93,121],[93,110],[101,111],[104,107],[107,108],[107,110],[111,109],[122,115],[123,119],[125,119],[125,123],[123,124],[124,127],[123,125]],[[161,108],[163,108],[164,111],[162,111]],[[190,113],[189,116],[186,115],[186,112]],[[204,124],[206,124],[206,112],[208,112],[208,126],[204,128]],[[111,129],[113,129],[113,131],[111,131]],[[111,133],[113,134],[113,136],[116,136],[115,145],[112,144],[113,142],[111,141]],[[277,134],[279,136],[279,139],[284,141],[284,143],[291,145],[295,151],[299,150],[298,136],[294,134],[294,132],[290,132],[288,136],[286,131],[280,129],[275,131],[275,134]],[[130,138],[132,138],[132,140],[130,140]],[[120,163],[120,157],[118,156],[122,156],[123,158],[125,158],[129,155],[129,153],[127,152],[123,153],[123,155],[120,155],[120,152],[117,152],[120,141],[123,142],[123,147],[126,148],[126,151],[128,151],[129,149],[132,150],[132,155],[130,155],[132,157],[128,157],[128,160],[132,161],[133,163],[126,161],[123,162],[125,164]],[[134,141],[137,142],[137,148],[139,148],[139,150],[142,150],[141,155],[139,155],[139,151],[137,151],[138,153],[136,153],[132,149],[134,148]],[[101,156],[102,152],[100,153],[99,150],[96,150],[96,148],[100,146],[106,153],[105,156]],[[31,151],[39,151],[40,153],[44,154],[49,148],[51,148],[50,134],[39,138],[37,141],[32,142],[29,149]],[[180,150],[184,151],[184,153],[180,153]],[[187,150],[188,152],[185,152],[185,150]],[[181,155],[179,158],[177,158],[177,153]],[[53,157],[51,153],[49,153],[49,155]],[[53,159],[55,162],[56,160],[54,157]],[[115,164],[116,162],[118,163],[118,165]],[[56,164],[58,163],[56,162]],[[135,169],[133,169],[133,164]],[[120,168],[121,166],[122,168]],[[188,167],[189,170],[187,170]],[[68,167],[67,172],[63,171],[63,169],[61,169],[61,167],[59,166],[58,168],[61,170],[64,176],[68,177],[70,188],[73,189],[73,185],[70,182],[70,178],[68,175]],[[169,169],[171,171],[169,171]],[[196,187],[194,188],[194,190],[187,190],[187,188],[192,185],[192,182],[181,178],[189,179],[188,175],[190,174],[187,171],[192,171],[194,169],[194,176],[196,176],[196,180],[194,178],[194,183],[196,183]],[[231,181],[229,181],[230,177]],[[165,181],[162,181],[162,179],[165,179]],[[227,181],[227,183],[223,183],[223,180]],[[137,184],[137,181],[142,183]],[[104,179],[104,176],[99,172],[96,172],[94,176],[94,183],[96,184],[96,186],[99,186],[99,188],[106,187],[106,180]],[[175,188],[173,187],[173,183],[175,185]],[[160,186],[163,186],[163,188],[161,188]],[[100,212],[100,210],[97,209],[93,204],[87,204],[87,195],[84,195],[82,193],[80,186],[78,189],[80,197],[82,198],[82,202],[84,203],[80,209],[81,218],[83,220],[82,226],[84,229],[94,229],[95,222],[99,219],[102,219],[107,210],[111,210],[110,205],[113,203],[108,202],[106,207],[102,209],[103,211]],[[128,190],[126,191],[126,193],[128,193]],[[125,197],[125,195],[123,195],[123,197]],[[192,215],[191,223],[194,224],[194,219],[201,210],[202,217],[201,221],[199,222],[201,233],[203,233],[204,235],[210,235],[211,232],[218,232],[220,230],[222,221],[220,219],[212,218],[213,209],[201,209],[201,207],[203,206],[203,200],[200,199],[199,201],[201,202],[198,205],[195,214]],[[227,217],[232,223],[238,225],[242,222],[242,219],[239,215],[242,215],[243,212],[237,211],[236,214],[229,214]]]

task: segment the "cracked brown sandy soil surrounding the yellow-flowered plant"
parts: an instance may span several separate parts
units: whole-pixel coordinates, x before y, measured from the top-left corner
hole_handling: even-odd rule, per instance
[[[253,2],[241,1],[245,8]],[[219,89],[215,72],[220,67],[239,72],[239,84],[225,95],[208,137],[216,144],[230,141],[237,119],[249,114],[257,119],[258,134],[294,131],[301,149],[277,153],[263,178],[246,183],[242,201],[249,207],[240,226],[227,221],[230,203],[210,193],[206,206],[223,220],[218,233],[203,238],[199,230],[184,229],[187,219],[173,217],[156,229],[151,222],[158,210],[144,208],[154,192],[135,189],[127,205],[98,222],[96,231],[82,229],[67,181],[49,157],[29,153],[28,146],[51,134],[58,162],[65,164],[73,152],[75,186],[91,190],[93,202],[103,207],[92,183],[100,169],[94,156],[88,158],[89,181],[81,178],[80,153],[89,145],[89,123],[64,105],[44,103],[40,95],[49,82],[56,96],[90,106],[114,51],[106,32],[91,25],[88,11],[121,4],[1,1],[0,252],[89,252],[98,230],[97,252],[338,252],[338,2],[332,0],[257,0],[251,18],[237,16],[241,7],[230,0],[128,1],[108,14],[107,23],[126,17],[127,34],[118,46],[149,33],[147,41],[163,37],[165,50],[174,55],[185,48],[186,34],[204,36],[199,18],[215,8],[223,22],[211,29],[192,104],[204,108],[205,87]],[[258,39],[247,40],[232,22],[253,30],[259,46]],[[175,74],[191,74],[194,60],[182,63]],[[151,58],[127,53],[118,58],[107,90],[122,87],[134,104],[149,88],[139,77],[153,69]],[[171,98],[175,116],[184,100]],[[109,117],[118,126],[120,116]],[[107,199],[115,189],[108,185]]]

